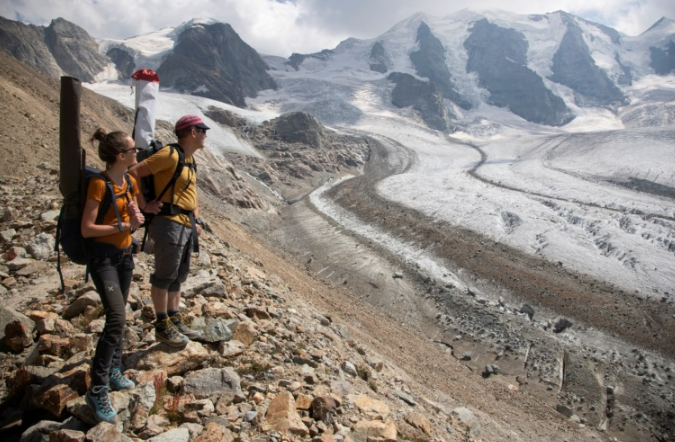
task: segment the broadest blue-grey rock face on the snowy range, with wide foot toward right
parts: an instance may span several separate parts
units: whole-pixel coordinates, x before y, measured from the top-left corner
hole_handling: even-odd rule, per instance
[[[464,47],[467,71],[478,74],[491,104],[534,123],[560,126],[571,120],[565,102],[527,67],[528,43],[521,33],[482,19],[474,23]]]

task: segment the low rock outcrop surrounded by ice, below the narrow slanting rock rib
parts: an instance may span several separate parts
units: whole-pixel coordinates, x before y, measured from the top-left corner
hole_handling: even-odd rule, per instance
[[[421,81],[401,72],[393,72],[387,78],[396,84],[391,93],[391,102],[395,106],[412,106],[432,129],[448,129],[448,109],[435,83]]]

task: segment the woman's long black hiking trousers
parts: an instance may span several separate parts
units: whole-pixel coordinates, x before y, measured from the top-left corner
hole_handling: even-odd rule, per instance
[[[122,253],[93,257],[89,261],[91,279],[105,308],[105,328],[91,364],[92,386],[108,385],[111,370],[121,368],[126,304],[133,270],[133,256]]]

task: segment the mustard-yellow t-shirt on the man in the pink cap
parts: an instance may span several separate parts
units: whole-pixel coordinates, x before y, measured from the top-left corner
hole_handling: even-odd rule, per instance
[[[176,166],[178,165],[178,149],[176,147],[171,149],[169,146],[164,146],[155,154],[143,160],[143,162],[148,166],[150,172],[152,172],[155,181],[155,195],[159,195],[176,171]],[[194,164],[194,162],[192,155],[185,155],[185,167],[183,167],[183,171],[172,186],[173,189],[169,187],[162,196],[164,205],[171,204],[173,193],[174,205],[183,210],[195,210],[197,208],[197,173],[194,167],[189,166],[190,164]],[[163,216],[170,220],[177,221],[184,226],[191,227],[190,219],[187,215],[178,214]]]

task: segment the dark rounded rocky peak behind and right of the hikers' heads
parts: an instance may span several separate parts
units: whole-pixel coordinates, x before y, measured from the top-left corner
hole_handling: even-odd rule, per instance
[[[245,107],[245,97],[276,89],[260,55],[225,23],[193,25],[157,73],[163,86]]]

